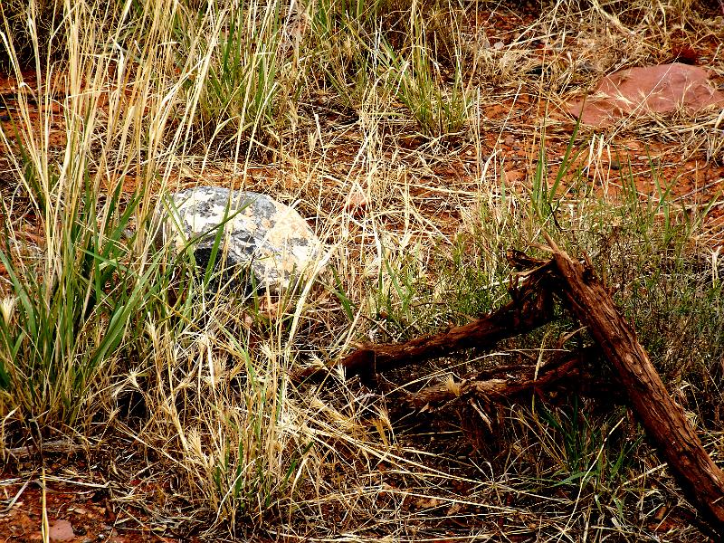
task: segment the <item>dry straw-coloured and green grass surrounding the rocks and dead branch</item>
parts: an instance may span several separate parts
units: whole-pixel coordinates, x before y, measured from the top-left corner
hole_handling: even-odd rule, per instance
[[[361,339],[497,307],[502,250],[535,251],[546,229],[618,285],[718,458],[721,264],[696,237],[709,208],[676,201],[671,178],[637,184],[653,162],[626,146],[713,167],[721,114],[626,119],[569,143],[563,111],[604,72],[710,43],[721,17],[673,1],[473,6],[59,3],[57,32],[23,31],[34,80],[4,12],[17,84],[0,132],[5,449],[81,443],[113,500],[177,536],[700,541],[620,406],[536,398],[500,409],[489,432],[480,405],[394,401],[546,357],[565,319],[390,376],[385,395],[337,370],[290,381]],[[702,49],[720,77],[721,51]],[[328,270],[281,300],[200,289],[146,232],[159,194],[199,183],[294,205],[328,244]],[[23,333],[31,321],[42,345]]]

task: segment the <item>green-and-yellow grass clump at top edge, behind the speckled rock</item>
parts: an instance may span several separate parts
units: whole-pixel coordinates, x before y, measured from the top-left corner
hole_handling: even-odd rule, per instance
[[[205,82],[186,84],[202,90],[195,123],[202,128],[207,145],[233,144],[238,161],[242,144],[264,137],[279,140],[287,110],[286,90],[297,88],[292,64],[299,58],[292,49],[295,44],[299,47],[298,36],[291,28],[292,14],[283,13],[280,2],[212,3],[206,10],[203,17],[189,16],[177,24],[178,39],[185,45],[183,55],[189,25],[195,31],[191,36],[208,36],[201,46],[210,54],[196,76]],[[183,62],[182,56],[178,62]]]

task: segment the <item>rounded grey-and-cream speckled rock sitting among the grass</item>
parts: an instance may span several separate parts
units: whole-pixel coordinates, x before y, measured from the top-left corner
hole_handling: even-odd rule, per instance
[[[157,220],[161,223],[157,241],[171,243],[179,252],[193,241],[195,261],[202,269],[211,259],[217,226],[224,223],[223,251],[216,256],[224,268],[215,266],[223,273],[221,281],[248,271],[243,280],[247,287],[253,277],[257,288],[272,292],[289,288],[310,271],[322,249],[300,214],[254,192],[197,186],[172,193],[165,205],[159,205]]]

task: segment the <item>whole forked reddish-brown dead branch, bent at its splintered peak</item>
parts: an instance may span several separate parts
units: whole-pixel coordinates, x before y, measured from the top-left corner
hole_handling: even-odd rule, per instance
[[[443,357],[463,348],[491,348],[501,339],[529,332],[553,319],[555,291],[595,339],[634,413],[658,445],[681,487],[710,527],[724,538],[724,472],[711,460],[683,409],[666,391],[633,328],[595,278],[593,267],[574,262],[547,239],[553,252],[551,261],[529,258],[522,252],[508,253],[514,268],[528,271],[519,274],[524,278],[522,287],[511,289],[512,300],[500,310],[465,326],[403,344],[363,346],[343,358],[341,366],[348,376],[358,375],[372,381],[377,372],[387,369]],[[424,406],[458,395],[504,398],[551,383],[575,367],[574,361],[570,361],[570,366],[562,365],[556,372],[512,383],[506,379],[472,379],[458,386],[433,387],[417,393],[411,401]],[[296,378],[301,380],[316,372],[316,368],[302,370]]]

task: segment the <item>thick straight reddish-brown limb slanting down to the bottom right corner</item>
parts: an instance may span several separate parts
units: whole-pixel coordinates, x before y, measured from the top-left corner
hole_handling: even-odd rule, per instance
[[[663,386],[631,325],[616,309],[590,264],[553,248],[564,302],[585,324],[624,386],[633,410],[672,472],[710,524],[724,535],[724,472],[711,460],[680,405]]]

